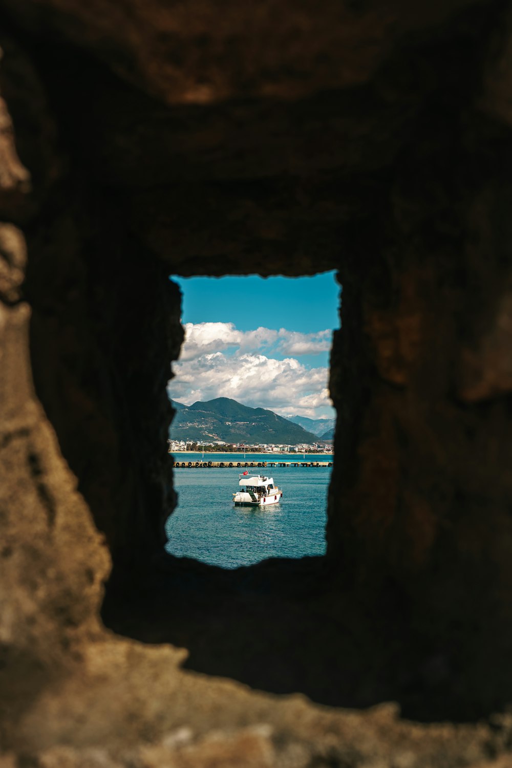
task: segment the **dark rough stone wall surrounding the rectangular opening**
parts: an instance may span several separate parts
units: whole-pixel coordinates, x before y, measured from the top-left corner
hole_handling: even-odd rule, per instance
[[[509,4],[0,18],[1,768],[512,764]],[[168,557],[167,274],[326,269],[327,557]]]

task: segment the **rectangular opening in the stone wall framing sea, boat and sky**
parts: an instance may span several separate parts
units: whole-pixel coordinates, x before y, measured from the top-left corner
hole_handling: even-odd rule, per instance
[[[167,387],[178,495],[167,551],[222,568],[325,554],[335,273],[173,280],[186,336]],[[267,478],[266,492],[243,472]]]

